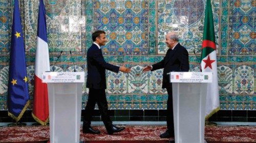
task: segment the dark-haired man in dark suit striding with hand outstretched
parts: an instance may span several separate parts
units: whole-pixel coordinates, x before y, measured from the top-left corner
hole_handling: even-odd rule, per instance
[[[108,134],[120,132],[124,127],[116,127],[112,124],[108,115],[108,103],[106,101],[106,78],[105,70],[110,70],[118,73],[118,71],[129,73],[131,69],[125,67],[118,67],[109,63],[106,63],[100,46],[105,45],[106,37],[104,31],[96,31],[92,34],[93,44],[87,51],[87,85],[89,88],[89,96],[86,105],[85,112],[83,114],[83,133],[100,133],[98,130],[94,130],[91,127],[92,113],[97,103],[101,115],[101,119],[105,125]]]

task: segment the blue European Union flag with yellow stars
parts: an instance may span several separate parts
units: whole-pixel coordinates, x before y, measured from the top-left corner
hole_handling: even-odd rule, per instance
[[[13,10],[7,100],[8,116],[17,123],[29,105],[25,48],[18,0],[14,1]]]

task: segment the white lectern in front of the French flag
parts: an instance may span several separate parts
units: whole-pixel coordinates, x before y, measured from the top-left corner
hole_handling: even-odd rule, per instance
[[[51,143],[79,143],[84,72],[44,72],[47,83]]]

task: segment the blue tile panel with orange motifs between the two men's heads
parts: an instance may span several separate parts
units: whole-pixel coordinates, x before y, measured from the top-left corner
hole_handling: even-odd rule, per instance
[[[148,15],[149,11],[155,10],[149,8],[150,4],[153,5],[141,0],[93,1],[94,31],[104,30],[109,40],[102,48],[104,55],[148,54]],[[87,42],[91,44],[91,41]]]

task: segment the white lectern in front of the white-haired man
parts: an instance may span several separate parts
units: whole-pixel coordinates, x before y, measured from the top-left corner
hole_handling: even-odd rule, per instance
[[[211,72],[170,72],[175,143],[203,143],[207,82]]]

